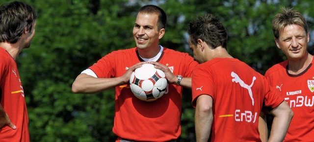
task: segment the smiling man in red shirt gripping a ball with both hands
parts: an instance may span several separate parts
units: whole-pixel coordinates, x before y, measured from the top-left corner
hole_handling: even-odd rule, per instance
[[[165,33],[166,14],[143,6],[136,17],[136,47],[113,51],[78,75],[74,93],[98,93],[115,88],[113,133],[116,142],[175,142],[181,134],[182,87],[191,87],[191,73],[198,64],[187,53],[158,45]],[[135,97],[130,89],[132,71],[151,63],[166,74],[168,90],[152,102]]]

